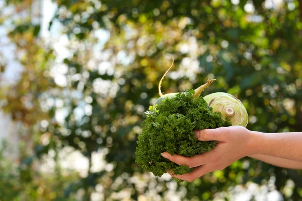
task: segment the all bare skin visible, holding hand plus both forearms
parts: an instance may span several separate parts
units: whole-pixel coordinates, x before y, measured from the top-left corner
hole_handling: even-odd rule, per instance
[[[162,153],[163,157],[179,165],[196,167],[191,173],[183,175],[173,175],[167,170],[171,176],[191,182],[246,156],[279,167],[302,169],[302,132],[261,133],[242,126],[231,126],[195,131],[195,137],[199,141],[215,140],[217,144],[213,150],[193,157]]]

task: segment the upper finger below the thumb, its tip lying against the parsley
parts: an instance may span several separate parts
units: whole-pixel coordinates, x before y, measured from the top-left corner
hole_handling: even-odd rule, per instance
[[[178,165],[188,165],[189,168],[203,165],[206,163],[206,161],[208,162],[208,158],[210,158],[210,152],[196,154],[192,157],[184,157],[177,154],[171,156],[171,154],[169,154],[168,152],[161,153],[161,155]]]

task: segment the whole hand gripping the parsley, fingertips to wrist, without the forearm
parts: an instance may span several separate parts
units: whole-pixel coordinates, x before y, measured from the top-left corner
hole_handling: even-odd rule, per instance
[[[221,127],[195,131],[195,137],[200,141],[217,141],[216,146],[209,152],[196,154],[192,157],[180,155],[171,156],[168,152],[162,156],[179,164],[196,167],[192,172],[182,175],[173,175],[178,179],[193,181],[194,179],[215,170],[222,170],[242,157],[252,155],[252,134],[242,126]]]

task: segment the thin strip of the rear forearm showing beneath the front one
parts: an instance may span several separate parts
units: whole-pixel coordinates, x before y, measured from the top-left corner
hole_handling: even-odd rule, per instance
[[[275,166],[290,168],[290,169],[302,169],[302,162],[289,160],[285,158],[278,158],[274,156],[267,155],[250,155],[249,157],[261,160],[265,163],[269,163]]]

